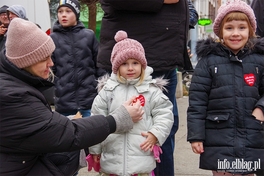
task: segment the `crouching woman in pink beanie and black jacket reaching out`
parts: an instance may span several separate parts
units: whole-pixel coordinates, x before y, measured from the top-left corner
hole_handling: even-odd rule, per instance
[[[0,60],[0,175],[73,175],[80,149],[142,119],[140,102],[129,106],[135,96],[107,117],[70,121],[52,111],[41,92],[54,85],[48,80],[54,49],[53,40],[34,23],[11,21]],[[56,154],[68,158],[66,166],[55,162],[65,159]]]

